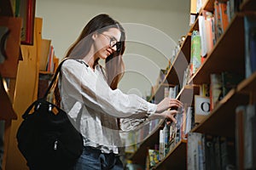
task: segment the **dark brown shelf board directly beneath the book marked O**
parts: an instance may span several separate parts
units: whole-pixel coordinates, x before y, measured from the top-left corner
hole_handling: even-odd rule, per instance
[[[236,106],[246,105],[248,96],[236,93],[233,88],[224,96],[214,108],[212,113],[207,116],[199,125],[194,127],[191,132],[208,133],[212,135],[235,137]]]

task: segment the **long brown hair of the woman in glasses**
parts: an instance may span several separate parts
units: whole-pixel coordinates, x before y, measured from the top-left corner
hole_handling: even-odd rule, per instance
[[[90,47],[94,42],[92,39],[93,33],[102,33],[103,31],[108,31],[109,28],[117,28],[121,32],[119,52],[114,52],[105,60],[108,85],[110,88],[116,89],[125,71],[125,65],[122,59],[122,55],[125,52],[125,30],[118,21],[113,20],[108,14],[98,14],[84,26],[78,39],[68,48],[65,58],[83,59],[89,53]],[[95,61],[95,65],[97,64],[98,60]],[[59,105],[61,99],[57,86],[55,87],[55,99],[56,104]]]

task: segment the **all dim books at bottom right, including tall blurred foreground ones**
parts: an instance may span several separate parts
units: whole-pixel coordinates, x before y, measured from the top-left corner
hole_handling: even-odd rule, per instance
[[[197,169],[256,168],[256,105],[236,107],[236,138],[188,133],[187,165]]]

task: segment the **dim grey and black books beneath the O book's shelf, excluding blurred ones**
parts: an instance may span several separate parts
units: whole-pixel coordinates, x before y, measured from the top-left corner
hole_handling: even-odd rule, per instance
[[[188,170],[236,169],[234,139],[204,133],[189,133]]]

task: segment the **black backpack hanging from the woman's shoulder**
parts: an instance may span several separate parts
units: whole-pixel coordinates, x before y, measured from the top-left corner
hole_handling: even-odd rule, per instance
[[[16,134],[18,148],[33,170],[72,169],[84,148],[82,135],[67,113],[46,100],[63,62],[44,98],[34,101],[23,114]]]

